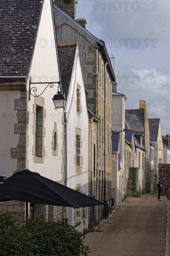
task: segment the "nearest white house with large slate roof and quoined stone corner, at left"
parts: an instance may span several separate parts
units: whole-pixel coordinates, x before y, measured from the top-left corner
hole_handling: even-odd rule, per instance
[[[60,81],[52,9],[51,0],[1,0],[0,174],[9,177],[29,168],[63,183],[63,124],[52,102]],[[0,205],[24,222],[23,202]],[[46,220],[64,217],[62,207],[32,205],[31,209]]]

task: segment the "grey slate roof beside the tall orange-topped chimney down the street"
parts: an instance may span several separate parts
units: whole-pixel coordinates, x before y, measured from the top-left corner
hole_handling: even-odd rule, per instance
[[[144,132],[144,111],[140,109],[125,109],[125,118],[134,132]]]

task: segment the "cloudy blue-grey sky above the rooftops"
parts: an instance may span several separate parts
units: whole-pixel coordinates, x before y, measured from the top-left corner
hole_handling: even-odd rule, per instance
[[[78,0],[76,18],[114,56],[126,109],[145,100],[149,118],[161,118],[162,134],[170,134],[170,1]]]

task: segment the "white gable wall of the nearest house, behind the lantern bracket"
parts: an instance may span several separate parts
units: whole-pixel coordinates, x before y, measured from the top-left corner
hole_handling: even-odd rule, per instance
[[[59,69],[57,62],[57,54],[54,43],[54,31],[52,23],[52,12],[50,0],[45,0],[42,16],[39,25],[39,31],[37,36],[37,41],[35,45],[35,50],[33,54],[33,62],[30,71],[30,77],[32,77],[32,82],[55,82],[59,81]],[[33,85],[32,85],[33,87]],[[45,84],[36,85],[38,88],[36,94],[40,94],[46,88]],[[27,84],[27,90],[29,89],[29,84]],[[31,96],[31,101],[28,103],[28,111],[30,112],[30,122],[28,125],[28,135],[29,135],[29,148],[28,148],[28,159],[29,159],[29,169],[34,172],[38,172],[40,175],[46,176],[54,181],[61,180],[61,163],[63,155],[61,154],[62,148],[62,129],[63,125],[61,118],[63,116],[63,110],[54,110],[54,104],[52,97],[56,94],[58,90],[58,84],[54,85],[53,88],[47,88],[46,91],[41,95],[45,99],[45,109],[46,109],[46,137],[45,137],[45,150],[46,156],[44,158],[44,163],[34,163],[32,155],[33,141],[33,104],[35,98]],[[52,130],[54,127],[54,121],[57,122],[58,131],[58,156],[52,156]]]

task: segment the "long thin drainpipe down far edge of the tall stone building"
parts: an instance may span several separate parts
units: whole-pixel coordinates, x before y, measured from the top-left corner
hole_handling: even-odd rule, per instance
[[[108,62],[105,63],[105,119],[104,119],[104,130],[105,130],[105,135],[104,135],[104,202],[106,200],[106,66]]]

